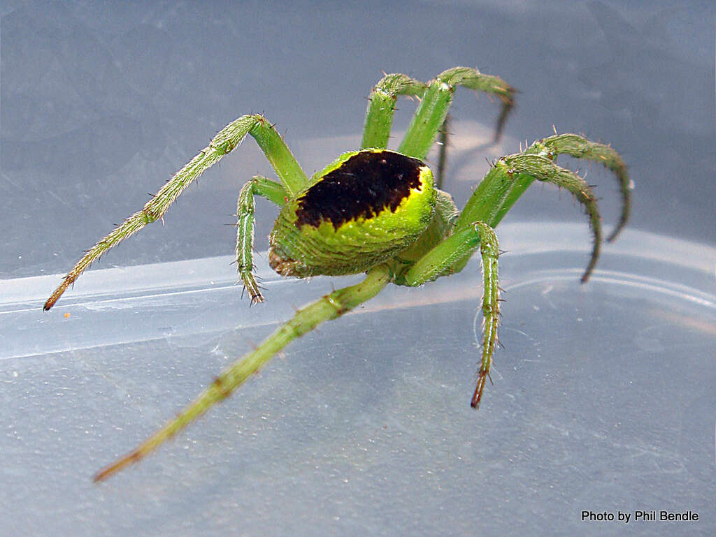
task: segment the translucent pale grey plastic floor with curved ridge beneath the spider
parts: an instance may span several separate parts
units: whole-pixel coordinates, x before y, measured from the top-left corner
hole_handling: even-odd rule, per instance
[[[4,361],[4,494],[33,491],[60,534],[77,533],[67,510],[87,535],[260,535],[267,523],[301,535],[439,534],[447,521],[470,534],[476,512],[493,517],[495,534],[556,518],[579,533],[582,508],[637,504],[687,506],[707,528],[716,251],[627,231],[580,285],[586,226],[499,235],[504,349],[478,412],[473,261],[420,289],[392,286],[294,342],[101,486],[89,482],[95,470],[330,280],[279,280],[261,266],[269,302],[249,310],[229,257],[98,270],[49,314],[37,300],[45,277],[9,282],[37,296],[0,310],[2,331],[18,335],[4,358],[24,357]],[[33,511],[16,505],[14,516]]]

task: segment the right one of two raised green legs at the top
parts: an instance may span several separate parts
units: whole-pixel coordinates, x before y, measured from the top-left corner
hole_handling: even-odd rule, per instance
[[[514,106],[515,89],[499,77],[481,74],[469,67],[453,67],[437,75],[422,95],[420,106],[412,117],[398,152],[409,157],[425,159],[440,131],[453,102],[455,87],[463,86],[475,92],[494,94],[502,101],[502,109],[495,127],[495,140],[500,138],[505,120]]]

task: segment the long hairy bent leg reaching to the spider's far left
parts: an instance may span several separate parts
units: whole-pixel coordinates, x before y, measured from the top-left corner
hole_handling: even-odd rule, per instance
[[[296,162],[291,151],[281,139],[281,136],[273,125],[271,125],[266,119],[258,114],[241,116],[234,120],[221,131],[216,134],[209,145],[202,149],[193,159],[188,162],[182,169],[180,169],[174,177],[169,179],[163,187],[159,189],[152,199],[150,199],[142,210],[135,212],[134,215],[130,216],[122,222],[121,225],[116,227],[100,242],[97,242],[92,248],[82,256],[72,270],[69,271],[67,276],[64,277],[62,283],[57,287],[56,290],[49,297],[47,302],[44,304],[44,310],[49,310],[55,302],[62,296],[62,293],[72,285],[74,280],[77,280],[79,275],[92,264],[98,257],[110,250],[113,246],[122,242],[127,237],[134,235],[137,231],[141,230],[142,227],[155,222],[163,217],[169,206],[179,197],[179,194],[188,187],[200,174],[206,169],[216,164],[221,157],[223,157],[232,149],[241,144],[247,134],[256,139],[258,146],[269,159],[271,166],[276,170],[276,174],[281,178],[286,192],[294,194],[306,184],[308,179],[306,174]]]

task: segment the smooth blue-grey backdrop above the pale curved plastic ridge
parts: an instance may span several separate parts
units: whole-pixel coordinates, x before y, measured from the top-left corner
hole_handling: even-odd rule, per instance
[[[632,227],[716,242],[707,2],[4,5],[4,277],[67,270],[241,114],[264,112],[312,171],[334,154],[301,141],[358,136],[381,70],[429,79],[463,64],[520,89],[505,131],[513,139],[531,142],[555,125],[619,149],[636,183]],[[400,108],[404,117],[414,109]],[[495,114],[485,97],[458,95],[456,119],[492,125]],[[271,169],[249,142],[188,192],[170,227],[147,230],[107,262],[231,253],[223,224],[256,172]],[[461,184],[457,199],[470,189]],[[569,203],[534,190],[513,218],[581,222]],[[613,222],[611,179],[599,194]],[[261,211],[259,237],[273,214]]]

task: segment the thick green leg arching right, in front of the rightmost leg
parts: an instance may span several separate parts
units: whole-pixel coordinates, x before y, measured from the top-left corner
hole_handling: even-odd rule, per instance
[[[596,206],[596,197],[584,179],[569,169],[559,167],[547,157],[542,157],[539,154],[518,153],[502,157],[495,162],[488,174],[485,175],[485,179],[480,182],[478,188],[468,199],[455,227],[460,229],[475,221],[487,222],[488,225],[495,227],[535,179],[551,182],[569,190],[584,205],[587,215],[589,215],[594,245],[589,265],[581,278],[582,282],[586,282],[591,271],[594,270],[601,250],[601,221]],[[453,268],[456,272],[462,270],[467,262],[468,258],[460,260]]]

